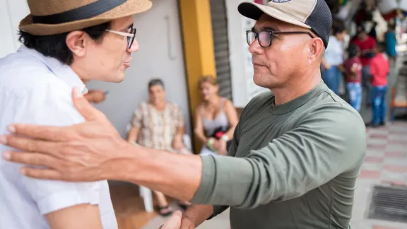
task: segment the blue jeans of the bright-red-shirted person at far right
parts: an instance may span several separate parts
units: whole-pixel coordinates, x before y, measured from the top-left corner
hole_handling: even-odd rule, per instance
[[[387,86],[372,87],[372,123],[380,124],[386,118]]]

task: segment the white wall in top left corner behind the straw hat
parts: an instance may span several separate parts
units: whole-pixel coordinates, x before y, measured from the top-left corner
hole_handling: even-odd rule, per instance
[[[0,58],[16,52],[18,23],[30,13],[26,0],[0,0]]]

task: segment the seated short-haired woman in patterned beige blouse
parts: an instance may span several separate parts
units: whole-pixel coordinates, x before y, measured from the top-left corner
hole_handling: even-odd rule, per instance
[[[149,102],[142,102],[134,112],[127,141],[141,146],[191,154],[184,146],[184,118],[179,106],[165,100],[164,83],[153,79],[148,83]],[[161,192],[154,192],[158,199],[158,211],[162,216],[172,213],[167,199]],[[187,208],[187,201],[179,201],[179,206]]]

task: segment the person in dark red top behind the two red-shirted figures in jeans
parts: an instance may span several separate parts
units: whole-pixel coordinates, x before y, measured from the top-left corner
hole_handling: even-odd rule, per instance
[[[367,105],[370,105],[370,61],[374,56],[373,48],[376,45],[376,40],[370,37],[365,28],[362,25],[358,26],[358,35],[355,40],[352,41],[353,44],[360,49],[360,61],[362,62],[362,85],[365,88],[367,95]]]

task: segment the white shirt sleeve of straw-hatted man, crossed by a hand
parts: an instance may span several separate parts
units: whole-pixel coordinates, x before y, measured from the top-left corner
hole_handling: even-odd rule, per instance
[[[35,86],[20,101],[15,122],[69,126],[84,121],[73,107],[71,88],[60,81]],[[21,176],[21,182],[42,214],[78,204],[100,204],[103,185],[102,182],[36,180],[25,176]]]

